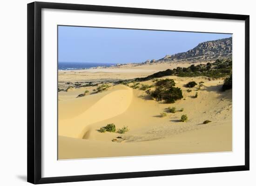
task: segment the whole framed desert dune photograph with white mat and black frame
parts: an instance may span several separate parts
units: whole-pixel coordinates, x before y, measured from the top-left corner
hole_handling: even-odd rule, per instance
[[[27,181],[249,170],[249,15],[27,5]]]

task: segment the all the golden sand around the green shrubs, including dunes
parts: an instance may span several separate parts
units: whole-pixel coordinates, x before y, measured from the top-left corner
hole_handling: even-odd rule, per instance
[[[59,81],[98,81],[106,78],[106,74],[117,79],[145,77],[155,71],[176,68],[175,65],[112,67],[65,71],[65,74],[61,71]],[[182,65],[189,66],[179,64]],[[162,78],[174,79],[176,87],[182,89],[184,98],[172,104],[160,103],[144,90],[112,83],[109,83],[111,87],[108,90],[96,94],[93,94],[95,87],[59,92],[58,158],[232,151],[232,90],[220,91],[223,80],[207,77]],[[191,89],[192,92],[187,92],[188,88],[184,85],[189,81],[205,83],[201,90],[197,90],[196,86]],[[149,80],[141,84],[153,82]],[[89,90],[88,95],[76,98],[85,90]],[[198,92],[197,98],[193,97],[195,92]],[[167,112],[166,117],[160,117],[160,113],[168,107],[184,110]],[[188,115],[188,122],[179,122],[183,114]],[[202,124],[205,120],[212,122]],[[108,123],[114,123],[116,128],[128,126],[129,131],[125,134],[100,133],[99,129]]]

